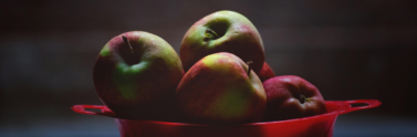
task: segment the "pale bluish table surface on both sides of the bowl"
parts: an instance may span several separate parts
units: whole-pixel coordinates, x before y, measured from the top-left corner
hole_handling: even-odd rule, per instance
[[[341,115],[334,137],[416,137],[417,117]],[[73,119],[33,119],[0,124],[1,137],[118,137],[113,118],[83,115]]]

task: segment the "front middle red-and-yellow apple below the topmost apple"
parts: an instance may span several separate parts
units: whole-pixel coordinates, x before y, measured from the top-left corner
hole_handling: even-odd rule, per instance
[[[262,82],[238,56],[220,52],[198,61],[183,77],[176,101],[184,122],[243,124],[260,122],[267,96]]]

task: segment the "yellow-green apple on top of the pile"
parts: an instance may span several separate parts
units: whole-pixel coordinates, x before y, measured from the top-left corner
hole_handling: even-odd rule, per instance
[[[217,52],[252,61],[256,73],[264,62],[261,35],[246,17],[234,11],[218,11],[191,25],[183,39],[179,57],[187,72],[200,59]]]

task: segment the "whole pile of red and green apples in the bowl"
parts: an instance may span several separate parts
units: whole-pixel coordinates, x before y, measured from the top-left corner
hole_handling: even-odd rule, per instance
[[[122,33],[94,66],[101,101],[117,117],[194,124],[246,124],[326,113],[319,89],[294,75],[275,76],[256,27],[218,11],[185,34],[179,56],[164,39]]]

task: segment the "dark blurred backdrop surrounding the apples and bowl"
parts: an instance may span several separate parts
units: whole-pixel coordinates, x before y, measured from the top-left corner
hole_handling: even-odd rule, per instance
[[[178,52],[189,27],[219,11],[258,28],[277,75],[299,75],[327,101],[374,98],[377,108],[341,115],[335,137],[417,136],[415,0],[9,0],[0,4],[0,136],[115,137],[92,70],[103,45],[133,30]]]

